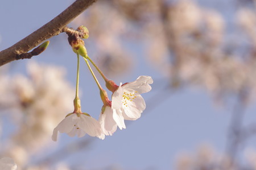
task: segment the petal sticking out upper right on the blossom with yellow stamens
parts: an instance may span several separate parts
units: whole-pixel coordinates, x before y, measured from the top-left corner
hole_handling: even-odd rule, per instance
[[[150,76],[139,76],[137,78],[137,80],[133,81],[133,82],[129,82],[125,85],[123,85],[123,89],[131,89],[134,91],[137,91],[138,94],[142,94],[142,93],[147,93],[149,92],[152,88],[149,84],[152,84],[153,80]]]

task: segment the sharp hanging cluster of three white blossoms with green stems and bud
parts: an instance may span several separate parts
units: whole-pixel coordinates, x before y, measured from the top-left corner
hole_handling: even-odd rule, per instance
[[[89,31],[86,27],[81,26],[77,28],[77,31],[84,31],[83,38],[88,38]],[[90,136],[97,136],[100,139],[105,139],[105,135],[113,135],[117,130],[117,126],[122,130],[126,128],[125,120],[135,121],[141,117],[141,113],[146,108],[146,103],[141,94],[149,92],[151,90],[150,84],[153,80],[150,76],[139,76],[137,80],[133,82],[127,82],[125,84],[120,83],[119,86],[114,81],[108,80],[104,73],[97,67],[97,65],[87,55],[86,48],[84,47],[84,41],[77,36],[69,35],[69,44],[73,51],[77,54],[77,82],[76,82],[76,97],[74,99],[74,111],[68,114],[63,121],[54,128],[52,134],[52,140],[57,140],[58,131],[61,133],[67,133],[69,136],[82,137],[85,134]],[[88,113],[82,113],[80,98],[79,98],[79,65],[80,56],[85,60],[90,72],[98,88],[100,89],[100,97],[103,102],[100,118],[97,121],[92,118]],[[102,78],[106,82],[106,88],[108,88],[112,94],[112,101],[108,98],[106,90],[104,90],[98,82],[95,74],[90,67],[90,63],[101,74]]]

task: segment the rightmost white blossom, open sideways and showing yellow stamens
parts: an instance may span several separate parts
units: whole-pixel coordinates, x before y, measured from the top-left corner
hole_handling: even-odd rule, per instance
[[[113,119],[120,129],[126,128],[124,120],[135,121],[141,117],[141,113],[146,108],[141,94],[149,92],[152,83],[153,80],[150,76],[139,76],[133,82],[123,85],[121,83],[113,92]]]

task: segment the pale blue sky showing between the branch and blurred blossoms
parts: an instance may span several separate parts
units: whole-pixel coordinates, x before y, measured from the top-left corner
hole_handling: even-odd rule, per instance
[[[201,2],[207,6],[219,6],[217,1]],[[43,26],[70,3],[71,1],[46,0],[38,5],[38,1],[3,1],[0,6],[0,50],[10,47]],[[150,106],[140,119],[129,122],[125,130],[117,130],[113,136],[108,136],[105,140],[95,139],[88,148],[67,157],[64,161],[82,164],[88,169],[109,165],[126,169],[172,169],[177,154],[183,151],[194,152],[200,144],[207,143],[218,151],[225,149],[226,130],[232,108],[216,107],[212,98],[203,89],[186,88],[176,93],[167,90],[158,95],[159,86],[164,86],[167,82],[163,81],[162,74],[144,59],[140,48],[141,44],[134,44],[135,56],[132,57],[137,62],[135,68],[114,81],[125,83],[134,81],[140,75],[152,76],[155,80],[152,91],[143,95],[146,103],[150,102]],[[89,54],[93,53],[92,50],[93,48],[88,47]],[[69,47],[67,35],[60,34],[50,39],[47,51],[31,60],[65,67],[68,80],[75,86],[76,55]],[[27,62],[28,60],[19,60],[10,63],[12,72],[24,72]],[[82,109],[97,118],[102,103],[97,86],[82,61],[80,72]],[[166,93],[170,93],[170,97],[164,97]],[[158,97],[155,97],[156,95]],[[154,101],[158,105],[154,106]],[[246,122],[254,118],[255,110],[255,106],[249,106]],[[74,140],[77,138],[68,138],[67,135],[61,134],[59,145],[63,146]],[[81,162],[73,159],[78,156],[84,157],[84,160]]]

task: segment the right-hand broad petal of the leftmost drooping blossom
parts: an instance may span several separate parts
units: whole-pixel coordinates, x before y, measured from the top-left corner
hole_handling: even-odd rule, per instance
[[[101,135],[101,125],[96,119],[92,117],[81,114],[80,119],[77,122],[77,126],[90,136]]]

